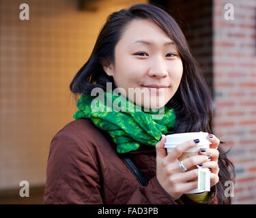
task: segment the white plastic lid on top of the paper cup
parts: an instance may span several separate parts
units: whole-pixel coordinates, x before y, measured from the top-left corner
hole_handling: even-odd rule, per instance
[[[199,139],[197,146],[208,146],[211,142],[207,139],[208,132],[186,132],[183,134],[171,134],[166,136],[165,148],[174,148],[178,144],[182,144],[188,140]]]

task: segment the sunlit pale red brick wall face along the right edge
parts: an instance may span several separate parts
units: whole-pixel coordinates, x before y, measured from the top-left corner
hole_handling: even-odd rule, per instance
[[[234,20],[224,5],[233,4]],[[214,1],[214,130],[231,147],[234,204],[256,203],[256,1]]]

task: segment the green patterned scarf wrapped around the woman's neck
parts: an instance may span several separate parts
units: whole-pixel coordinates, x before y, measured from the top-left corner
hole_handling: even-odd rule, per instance
[[[176,117],[173,108],[167,106],[148,112],[141,107],[138,111],[138,106],[124,95],[109,92],[98,97],[81,95],[76,106],[79,110],[74,119],[91,119],[98,128],[107,131],[117,144],[118,153],[135,151],[140,144],[155,146],[162,134],[173,134]]]

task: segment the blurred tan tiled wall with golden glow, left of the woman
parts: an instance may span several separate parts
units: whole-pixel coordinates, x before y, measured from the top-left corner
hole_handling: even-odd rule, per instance
[[[79,2],[0,1],[0,190],[44,185],[51,139],[76,111],[69,84],[106,16],[147,1],[91,1],[96,12]],[[29,20],[19,18],[21,3]]]

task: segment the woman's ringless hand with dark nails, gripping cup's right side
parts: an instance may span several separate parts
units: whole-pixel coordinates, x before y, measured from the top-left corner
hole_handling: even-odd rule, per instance
[[[212,137],[211,137],[212,136]],[[220,171],[220,168],[218,168],[218,144],[220,144],[220,140],[212,135],[209,134],[208,140],[212,142],[210,144],[210,149],[200,149],[199,154],[201,155],[208,155],[211,157],[211,161],[207,163],[202,163],[203,165],[201,166],[202,168],[209,168],[211,170],[211,175],[210,175],[210,187],[216,185],[218,183],[219,178],[218,178],[218,172]]]

